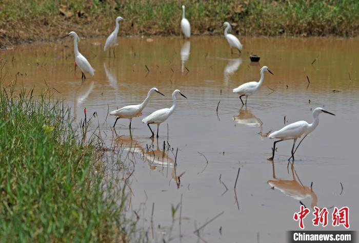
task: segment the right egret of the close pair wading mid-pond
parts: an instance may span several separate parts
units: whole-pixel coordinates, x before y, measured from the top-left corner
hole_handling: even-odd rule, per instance
[[[154,133],[153,133],[151,127],[150,127],[150,124],[157,124],[157,137],[158,137],[159,124],[165,122],[165,120],[167,120],[167,118],[173,113],[174,109],[176,108],[176,104],[177,104],[176,95],[177,94],[181,94],[183,97],[185,97],[187,99],[187,97],[185,95],[183,95],[181,93],[181,91],[176,89],[172,93],[173,105],[171,106],[171,108],[165,108],[165,109],[157,110],[157,111],[153,112],[152,114],[146,116],[142,120],[142,122],[146,123],[148,128],[151,130],[151,133],[152,133],[151,137],[154,137]]]

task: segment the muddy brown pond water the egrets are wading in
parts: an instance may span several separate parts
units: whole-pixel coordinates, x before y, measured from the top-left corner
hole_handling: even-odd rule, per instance
[[[287,230],[299,229],[293,213],[300,209],[300,201],[309,208],[348,206],[351,229],[357,230],[359,64],[354,50],[359,49],[359,39],[241,40],[244,50],[238,56],[231,55],[222,37],[190,41],[119,38],[115,58],[108,58],[102,50],[104,39],[81,40],[79,49],[96,70],[84,82],[79,70],[74,70],[72,39],[18,46],[0,52],[0,57],[7,59],[3,70],[7,80],[16,77],[18,87],[35,87],[37,92],[46,88],[46,80],[61,92],[56,96],[72,107],[77,122],[84,118],[86,107],[88,114],[97,112],[98,123],[107,134],[112,134],[115,120],[107,117],[108,107],[139,104],[152,87],[166,95],[153,94],[143,115],[133,119],[132,138],[127,119],[119,119],[116,125],[117,140],[124,147],[132,145],[135,157],[130,211],[137,212],[138,226],[149,231],[152,241],[201,241],[193,231],[224,211],[200,231],[201,238],[208,242],[284,242]],[[261,56],[260,63],[249,62],[252,53]],[[264,65],[274,76],[266,73],[262,87],[241,108],[232,89],[257,81]],[[156,109],[170,107],[175,89],[188,99],[178,96],[175,112],[160,126],[159,138],[152,140],[141,120]],[[311,109],[316,107],[336,116],[320,115],[320,124],[296,152],[294,166],[287,161],[291,141],[279,143],[274,164],[268,161],[273,140],[265,138],[265,133],[282,128],[284,117],[287,123],[311,122]],[[173,153],[178,148],[176,171],[173,153],[162,153],[167,124]],[[233,187],[238,168],[236,200]],[[181,195],[181,229],[178,209],[170,232],[171,205],[179,204]],[[308,230],[316,229],[311,219],[312,215],[305,219]]]

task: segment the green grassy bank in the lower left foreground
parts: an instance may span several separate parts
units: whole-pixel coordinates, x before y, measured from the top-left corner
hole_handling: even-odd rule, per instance
[[[124,190],[104,185],[101,154],[78,141],[66,106],[2,85],[0,113],[0,241],[131,239]]]

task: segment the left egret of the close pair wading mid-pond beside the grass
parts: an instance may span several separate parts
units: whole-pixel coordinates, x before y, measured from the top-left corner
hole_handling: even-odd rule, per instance
[[[157,92],[159,94],[162,94],[163,96],[165,96],[163,93],[159,92],[157,88],[152,88],[148,91],[147,97],[145,98],[145,100],[138,105],[131,105],[131,106],[125,106],[121,109],[118,110],[114,110],[110,112],[110,115],[114,115],[116,116],[116,120],[115,120],[115,124],[113,125],[113,127],[115,127],[116,122],[119,118],[127,118],[130,119],[130,128],[131,128],[131,122],[132,122],[132,118],[133,117],[137,117],[142,115],[142,110],[145,108],[145,106],[147,105],[150,96],[153,92]]]

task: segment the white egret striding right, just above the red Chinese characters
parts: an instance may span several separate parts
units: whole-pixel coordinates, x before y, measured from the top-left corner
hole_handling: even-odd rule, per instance
[[[318,108],[315,108],[314,111],[313,111],[313,122],[311,124],[307,123],[305,120],[301,120],[299,122],[289,124],[289,125],[285,126],[284,128],[282,128],[279,131],[275,131],[275,132],[272,132],[271,134],[269,134],[269,136],[268,136],[269,138],[280,139],[280,140],[277,140],[277,141],[274,142],[274,144],[273,144],[273,155],[272,155],[272,157],[269,158],[269,160],[272,160],[274,158],[275,144],[280,142],[280,141],[290,140],[290,139],[293,139],[293,148],[292,148],[292,156],[289,159],[291,159],[293,157],[293,160],[294,160],[295,151],[301,145],[303,139],[309,133],[311,133],[316,128],[316,126],[318,126],[318,124],[319,124],[319,114],[322,113],[322,112],[334,115],[333,113],[330,113],[329,111],[326,111],[326,110],[318,107]],[[300,143],[298,144],[298,146],[294,150],[296,140],[298,138],[300,138],[302,135],[304,135],[304,137],[302,138],[302,140],[300,141]]]

